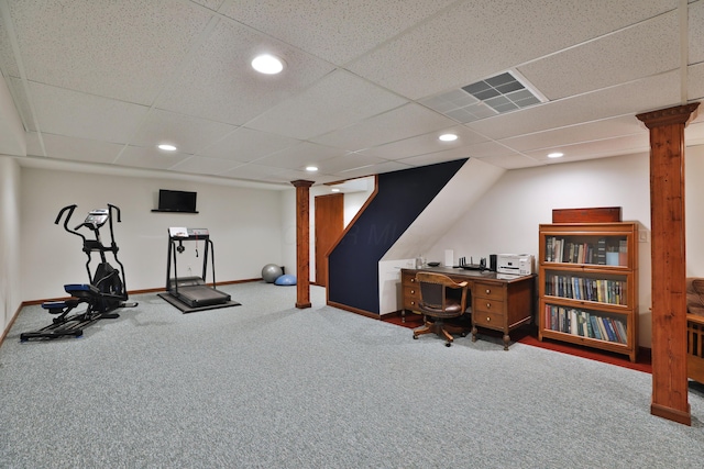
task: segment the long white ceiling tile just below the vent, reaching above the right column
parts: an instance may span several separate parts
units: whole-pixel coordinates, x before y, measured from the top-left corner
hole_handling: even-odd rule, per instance
[[[679,97],[679,72],[672,71],[466,125],[490,138],[502,139],[625,114],[635,116],[640,112],[673,105]]]

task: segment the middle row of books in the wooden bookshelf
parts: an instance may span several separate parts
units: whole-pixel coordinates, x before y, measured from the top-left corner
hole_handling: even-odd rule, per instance
[[[546,294],[572,300],[627,304],[625,280],[591,279],[584,277],[546,275]]]

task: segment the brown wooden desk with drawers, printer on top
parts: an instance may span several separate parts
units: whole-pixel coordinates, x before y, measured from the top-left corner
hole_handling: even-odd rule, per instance
[[[402,269],[402,314],[406,311],[420,314],[417,306],[420,291],[416,284],[416,273],[419,271],[444,273],[457,282],[468,282],[472,304],[472,342],[476,342],[477,327],[502,331],[504,350],[508,350],[508,334],[532,320],[535,276],[502,278],[495,272],[451,267]]]

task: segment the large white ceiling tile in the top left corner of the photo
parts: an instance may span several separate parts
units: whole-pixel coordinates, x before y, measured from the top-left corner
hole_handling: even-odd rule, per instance
[[[10,10],[28,79],[142,104],[210,19],[169,0],[14,1]]]

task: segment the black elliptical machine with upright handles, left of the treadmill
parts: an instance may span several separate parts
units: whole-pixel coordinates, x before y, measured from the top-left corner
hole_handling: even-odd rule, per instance
[[[136,302],[125,302],[128,292],[124,282],[124,266],[122,266],[122,263],[118,259],[119,247],[114,242],[112,219],[113,212],[116,212],[118,223],[121,222],[120,209],[116,205],[108,204],[107,209],[91,210],[86,220],[72,230],[68,226],[68,222],[76,206],[76,204],[64,206],[58,212],[54,224],[59,224],[62,217],[64,217],[64,213],[68,212],[64,219],[64,230],[82,239],[82,250],[88,256],[86,270],[90,283],[65,284],[64,290],[70,294],[72,298],[68,300],[42,303],[43,309],[47,310],[50,314],[57,314],[57,316],[52,321],[52,324],[46,327],[20,334],[20,340],[22,342],[31,338],[80,337],[84,334],[82,330],[90,324],[99,320],[120,317],[119,314],[113,313],[118,308],[134,308],[138,305]],[[100,239],[100,228],[106,223],[110,228],[110,246],[103,245]],[[92,233],[92,239],[78,231],[81,228],[89,230]],[[97,265],[95,275],[90,269],[92,253],[98,253],[100,257],[100,264]],[[108,263],[106,253],[112,254],[120,269],[116,269]],[[86,303],[86,310],[84,312],[68,315],[68,313],[82,303]]]

